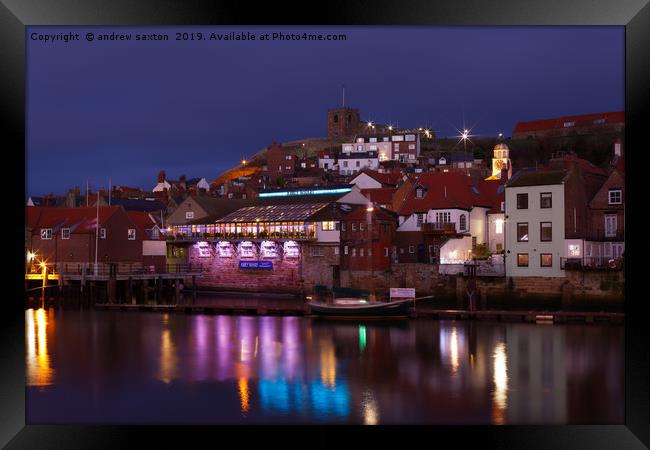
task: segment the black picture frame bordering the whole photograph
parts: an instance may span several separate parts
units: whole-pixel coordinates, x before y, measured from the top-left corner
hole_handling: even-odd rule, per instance
[[[378,1],[302,3],[281,8],[276,2],[249,5],[244,2],[203,3],[197,1],[133,1],[133,0],[4,0],[0,4],[0,61],[2,64],[2,135],[5,154],[13,154],[11,170],[20,179],[24,174],[25,158],[25,27],[28,25],[227,25],[227,24],[338,24],[338,25],[416,25],[416,26],[563,26],[612,25],[625,26],[625,121],[626,148],[631,158],[642,158],[646,145],[641,141],[644,118],[648,110],[650,85],[650,5],[646,0],[625,2],[608,0],[576,0],[565,2],[547,0],[511,0],[498,4],[480,0],[425,0],[404,2]],[[22,161],[22,163],[21,163]],[[17,164],[17,167],[16,167]],[[627,164],[628,178],[634,180],[643,164]],[[22,179],[24,182],[25,180]],[[5,183],[8,183],[5,180]],[[633,181],[632,181],[633,182]],[[25,186],[26,184],[24,184]],[[631,184],[633,185],[633,184]],[[643,190],[640,190],[643,192]],[[11,191],[9,191],[11,194]],[[15,194],[14,194],[15,195]],[[640,193],[628,190],[626,201],[634,205]],[[24,199],[8,196],[11,208],[18,217],[24,214]],[[11,215],[13,216],[13,212]],[[642,212],[627,208],[627,239],[642,238],[637,232]],[[24,222],[5,214],[6,233],[21,236]],[[641,221],[642,222],[642,221]],[[14,228],[15,226],[15,228]],[[12,242],[12,239],[9,239]],[[225,444],[229,438],[248,436],[277,438],[298,444],[292,436],[295,429],[257,427],[253,433],[241,428],[223,427],[90,427],[90,426],[25,426],[24,385],[24,307],[22,281],[10,282],[13,276],[23,277],[23,258],[20,239],[13,239],[15,253],[11,271],[6,271],[7,284],[16,286],[16,293],[4,298],[0,328],[0,444],[5,448],[129,448],[172,446],[182,439],[184,447],[197,446],[206,439],[210,446]],[[626,261],[640,253],[639,247],[628,245]],[[638,257],[637,257],[638,258]],[[9,259],[9,258],[8,258]],[[633,264],[627,264],[633,266]],[[13,274],[13,270],[16,271]],[[627,270],[627,269],[626,269]],[[403,442],[404,437],[436,442],[453,442],[462,448],[471,442],[499,448],[644,448],[650,445],[650,358],[645,341],[647,308],[645,292],[637,291],[638,277],[626,274],[626,405],[625,425],[584,426],[506,426],[506,427],[403,427],[357,428],[365,439],[381,439],[383,443]],[[639,293],[640,292],[640,293]],[[635,293],[632,295],[632,293]],[[629,295],[628,295],[629,294]],[[632,301],[634,300],[634,301]],[[218,428],[218,429],[217,429]],[[313,427],[302,427],[309,443],[339,445],[336,433],[340,428],[319,433]],[[350,428],[346,428],[349,430]],[[393,433],[398,431],[397,433]],[[388,434],[390,432],[390,435]],[[415,436],[417,433],[418,436]],[[227,434],[228,436],[224,436]],[[146,439],[140,441],[140,439]],[[387,439],[388,438],[388,439]],[[398,441],[397,439],[400,439]],[[230,441],[232,442],[232,441]],[[265,442],[271,442],[270,440]],[[203,444],[205,445],[205,444]],[[227,444],[226,444],[227,445]],[[309,444],[307,444],[309,445]],[[227,445],[228,446],[228,445]]]

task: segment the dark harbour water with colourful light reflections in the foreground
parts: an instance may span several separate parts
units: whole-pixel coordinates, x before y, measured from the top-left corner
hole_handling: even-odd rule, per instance
[[[622,424],[624,328],[29,309],[28,424]]]

